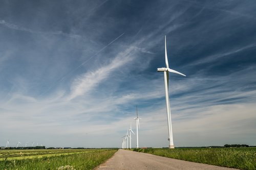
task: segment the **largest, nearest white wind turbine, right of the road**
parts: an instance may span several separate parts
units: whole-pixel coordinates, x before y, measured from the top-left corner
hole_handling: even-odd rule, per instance
[[[164,86],[165,86],[165,100],[166,100],[166,112],[167,112],[167,124],[168,124],[168,140],[169,140],[169,148],[174,148],[174,139],[173,139],[173,129],[172,129],[172,119],[170,117],[170,102],[169,102],[169,94],[168,94],[168,86],[169,86],[169,72],[173,72],[182,76],[182,73],[170,69],[168,64],[168,58],[167,58],[167,51],[166,51],[166,36],[165,36],[165,64],[166,68],[157,68],[157,71],[162,71],[164,73]]]

